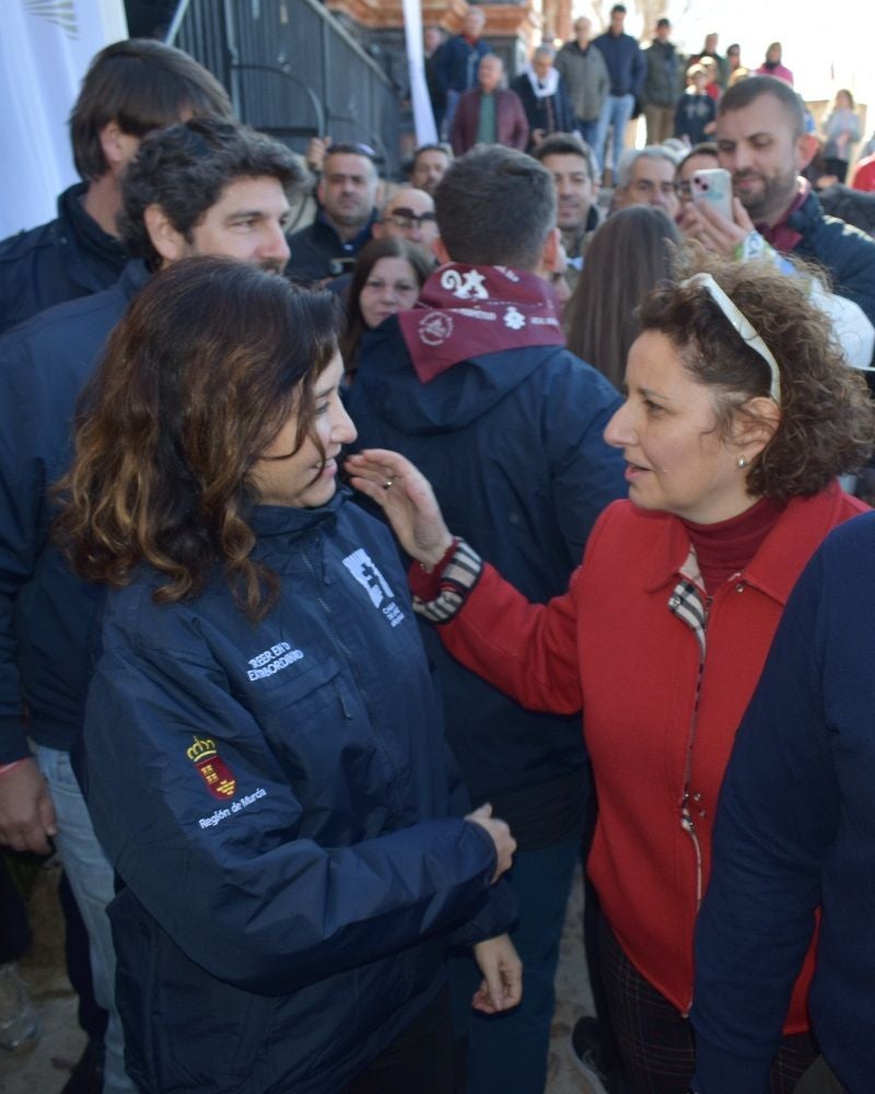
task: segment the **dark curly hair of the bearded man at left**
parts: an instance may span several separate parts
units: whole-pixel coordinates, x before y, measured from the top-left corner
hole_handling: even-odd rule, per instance
[[[121,181],[118,228],[126,251],[161,266],[145,226],[145,210],[160,206],[189,243],[195,228],[237,178],[276,178],[290,199],[308,176],[284,144],[235,121],[190,118],[150,133]]]

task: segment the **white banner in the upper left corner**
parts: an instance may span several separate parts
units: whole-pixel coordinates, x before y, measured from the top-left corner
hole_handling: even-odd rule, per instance
[[[78,181],[67,119],[92,57],[127,38],[122,0],[5,0],[0,33],[0,240],[55,217]]]

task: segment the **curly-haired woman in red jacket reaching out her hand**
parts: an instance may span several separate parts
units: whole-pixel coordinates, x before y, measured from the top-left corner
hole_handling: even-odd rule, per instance
[[[657,1094],[682,1094],[692,1075],[692,933],[735,729],[796,577],[865,509],[836,476],[875,441],[865,384],[805,280],[759,264],[710,269],[642,307],[627,399],[605,432],[623,450],[629,500],[602,514],[569,592],[548,605],[452,539],[401,457],[350,461],[353,485],[422,565],[420,608],[452,652],[526,706],[584,713],[610,1017],[631,1089]],[[809,954],[775,1092],[816,1055],[810,965]]]

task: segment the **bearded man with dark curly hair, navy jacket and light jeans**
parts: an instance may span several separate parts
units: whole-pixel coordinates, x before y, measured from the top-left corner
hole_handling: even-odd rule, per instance
[[[88,927],[95,994],[109,1011],[105,1076],[114,1094],[132,1086],[105,912],[113,872],[70,767],[97,591],[48,542],[50,487],[67,469],[79,394],[149,268],[218,254],[282,270],[287,191],[302,185],[288,149],[242,126],[192,118],[151,133],[122,179],[121,242],[133,258],[120,280],[0,338],[0,843],[46,853],[56,839]]]

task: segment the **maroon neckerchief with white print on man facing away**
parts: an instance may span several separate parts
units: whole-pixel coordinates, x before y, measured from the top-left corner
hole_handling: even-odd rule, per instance
[[[398,323],[423,384],[459,361],[523,346],[564,346],[552,288],[508,266],[447,263]]]

